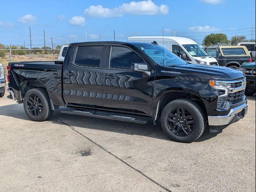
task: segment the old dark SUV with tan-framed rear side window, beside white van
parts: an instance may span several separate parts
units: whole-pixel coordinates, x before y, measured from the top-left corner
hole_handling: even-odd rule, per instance
[[[245,46],[207,47],[205,52],[216,58],[219,66],[238,69],[244,62],[252,62],[250,53]]]

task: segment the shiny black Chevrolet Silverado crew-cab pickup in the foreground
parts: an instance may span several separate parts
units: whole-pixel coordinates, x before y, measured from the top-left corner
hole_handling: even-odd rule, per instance
[[[247,113],[239,70],[187,64],[150,43],[70,44],[64,62],[8,64],[8,98],[34,121],[61,113],[146,124],[160,120],[180,142],[218,131]],[[102,125],[104,126],[104,125]]]

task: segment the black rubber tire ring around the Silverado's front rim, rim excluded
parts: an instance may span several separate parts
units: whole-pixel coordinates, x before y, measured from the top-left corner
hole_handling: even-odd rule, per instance
[[[168,128],[167,123],[167,117],[169,113],[174,109],[178,107],[183,107],[189,110],[189,112],[192,112],[194,119],[195,119],[195,128],[194,131],[189,134],[188,136],[177,136],[174,133],[171,132],[171,130]],[[161,115],[161,124],[164,132],[168,134],[168,136],[175,141],[179,142],[193,142],[196,139],[198,139],[205,130],[205,120],[202,115],[202,112],[198,110],[198,106],[193,105],[192,103],[188,102],[187,100],[174,100],[170,103],[168,103],[164,110],[162,111]]]

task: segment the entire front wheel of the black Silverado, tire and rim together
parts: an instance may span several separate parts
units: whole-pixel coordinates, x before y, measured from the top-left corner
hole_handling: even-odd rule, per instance
[[[181,122],[181,121],[178,121],[178,120],[182,120],[180,119],[181,117],[174,118],[170,116],[170,115],[175,116],[175,110],[176,110],[176,114],[178,114],[177,108],[180,108],[180,110],[183,108],[185,110],[184,112],[185,115],[183,115],[183,120],[184,118],[186,118],[186,120]],[[182,116],[182,112],[180,112],[180,114]],[[187,119],[187,117],[189,116],[193,116],[193,118]],[[171,118],[173,119],[169,121],[168,118],[169,120]],[[193,120],[194,120],[194,124],[191,124]],[[176,121],[176,122],[174,123],[173,121]],[[190,124],[188,122],[190,122]],[[176,125],[176,128],[174,130],[172,130],[174,126],[171,127],[171,124],[174,124],[174,126]],[[161,125],[164,132],[172,140],[178,141],[178,142],[190,143],[200,138],[200,136],[204,133],[204,130],[206,128],[206,118],[204,115],[204,111],[202,110],[202,107],[198,103],[189,99],[177,99],[168,103],[164,107],[164,110],[162,111],[162,115],[161,115]],[[181,128],[182,127],[181,125],[184,126],[183,129]],[[189,129],[191,129],[191,131],[189,131],[188,127]],[[177,132],[178,129],[180,130]],[[186,130],[187,133],[188,132],[190,133],[185,134],[184,129]],[[174,132],[177,132],[177,133],[175,134]],[[182,132],[184,133],[182,134]]]

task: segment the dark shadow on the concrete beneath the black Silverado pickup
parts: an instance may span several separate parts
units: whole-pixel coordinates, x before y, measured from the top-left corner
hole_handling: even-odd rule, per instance
[[[20,120],[31,121],[25,114],[22,104],[11,104],[6,106],[0,106],[0,116],[9,116]],[[151,119],[147,119],[148,124],[134,124],[130,122],[121,122],[115,120],[106,120],[100,118],[82,117],[70,114],[61,114],[60,110],[55,110],[52,117],[47,122],[60,124],[64,122],[69,126],[79,127],[91,130],[100,130],[106,132],[115,132],[119,134],[129,134],[146,136],[151,138],[157,138],[162,140],[170,140],[168,136],[163,132],[160,123],[154,125]],[[15,125],[15,119],[10,119],[11,125]],[[31,121],[33,122],[33,121]],[[19,121],[19,124],[22,123]],[[66,125],[65,125],[66,126]],[[209,133],[206,129],[204,134],[196,141],[202,142],[215,137],[218,133]]]

